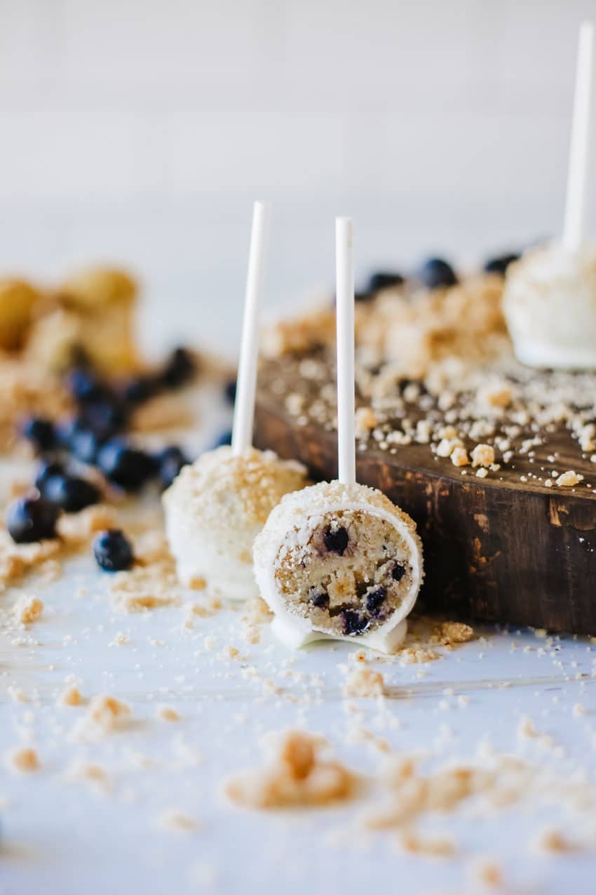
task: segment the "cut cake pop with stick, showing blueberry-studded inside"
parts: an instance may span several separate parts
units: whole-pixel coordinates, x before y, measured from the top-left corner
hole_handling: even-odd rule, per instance
[[[356,482],[352,222],[337,222],[338,482],[286,495],[255,541],[273,631],[302,646],[332,638],[393,652],[423,578],[416,524]]]

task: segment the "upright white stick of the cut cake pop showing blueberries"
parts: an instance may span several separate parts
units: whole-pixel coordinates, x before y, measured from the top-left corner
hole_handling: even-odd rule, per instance
[[[354,222],[335,220],[335,292],[337,306],[338,478],[356,482],[354,431]]]

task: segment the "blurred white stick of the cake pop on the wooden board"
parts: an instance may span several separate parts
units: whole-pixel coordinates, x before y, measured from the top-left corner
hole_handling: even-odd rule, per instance
[[[577,47],[574,113],[571,125],[567,200],[563,226],[563,244],[568,251],[577,251],[583,240],[592,84],[594,81],[593,50],[594,26],[592,21],[584,21],[579,30]]]

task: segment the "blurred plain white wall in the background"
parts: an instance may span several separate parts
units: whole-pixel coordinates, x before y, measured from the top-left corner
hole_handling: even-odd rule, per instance
[[[126,262],[148,343],[233,350],[254,198],[274,203],[270,305],[332,280],[338,213],[357,218],[361,276],[554,233],[576,32],[594,13],[0,0],[0,270]]]

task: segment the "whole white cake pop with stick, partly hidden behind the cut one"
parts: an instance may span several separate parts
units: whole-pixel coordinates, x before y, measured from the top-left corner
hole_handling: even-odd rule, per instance
[[[256,202],[231,447],[208,451],[185,466],[164,493],[165,530],[180,581],[205,582],[234,600],[257,595],[255,537],[283,495],[307,483],[304,466],[251,447],[268,228],[269,206]]]

